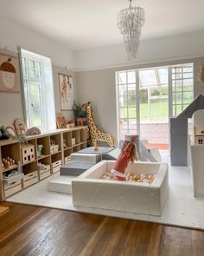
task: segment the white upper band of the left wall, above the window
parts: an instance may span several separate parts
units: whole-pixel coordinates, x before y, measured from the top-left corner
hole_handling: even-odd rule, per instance
[[[72,51],[35,33],[35,31],[0,17],[0,35],[0,46],[3,44],[12,49],[17,49],[17,46],[21,46],[24,49],[50,57],[54,65],[75,69]]]

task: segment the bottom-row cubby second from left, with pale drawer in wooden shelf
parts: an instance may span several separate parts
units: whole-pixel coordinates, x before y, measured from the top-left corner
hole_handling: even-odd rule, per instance
[[[29,187],[38,182],[37,161],[22,166],[22,173],[24,174],[23,187]]]

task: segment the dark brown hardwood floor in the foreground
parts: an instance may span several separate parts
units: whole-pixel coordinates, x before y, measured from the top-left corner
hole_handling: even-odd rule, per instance
[[[204,232],[2,203],[0,255],[204,255]]]

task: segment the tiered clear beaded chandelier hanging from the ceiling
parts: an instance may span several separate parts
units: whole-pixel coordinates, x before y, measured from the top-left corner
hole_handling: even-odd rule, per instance
[[[129,7],[120,10],[117,16],[118,29],[124,36],[128,60],[136,58],[141,28],[145,21],[143,8],[131,6],[131,1],[129,0]]]

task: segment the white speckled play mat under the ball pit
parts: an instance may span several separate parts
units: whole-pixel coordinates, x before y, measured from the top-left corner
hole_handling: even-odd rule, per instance
[[[163,154],[163,161],[169,161],[168,154]],[[169,165],[169,199],[161,217],[96,208],[73,207],[71,194],[48,192],[48,180],[53,177],[29,187],[21,193],[10,197],[7,201],[204,229],[204,197],[194,197],[192,177],[188,167],[170,167]]]

